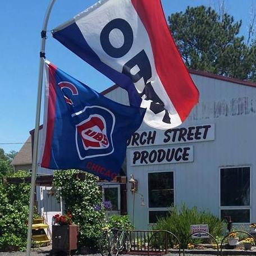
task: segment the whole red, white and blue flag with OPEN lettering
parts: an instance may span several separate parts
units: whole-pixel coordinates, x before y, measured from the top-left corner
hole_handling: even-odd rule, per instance
[[[178,126],[198,102],[160,0],[102,0],[52,33],[147,108],[149,126]]]

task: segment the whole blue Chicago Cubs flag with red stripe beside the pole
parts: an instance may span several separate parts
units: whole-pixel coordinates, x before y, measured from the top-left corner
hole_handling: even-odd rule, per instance
[[[45,74],[41,166],[76,168],[112,180],[145,109],[113,102],[49,62]]]

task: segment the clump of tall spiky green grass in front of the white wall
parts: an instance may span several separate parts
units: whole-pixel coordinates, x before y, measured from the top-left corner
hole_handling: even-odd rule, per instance
[[[197,224],[208,224],[209,233],[214,237],[222,235],[222,229],[225,225],[223,221],[209,212],[198,211],[196,207],[189,208],[186,205],[182,205],[180,209],[173,207],[166,217],[159,218],[153,229],[172,232],[181,241],[181,246],[186,247],[188,243],[202,243],[202,240],[199,239],[188,239],[190,225]],[[177,244],[177,241],[174,237],[171,237],[170,245],[172,246],[173,244]]]

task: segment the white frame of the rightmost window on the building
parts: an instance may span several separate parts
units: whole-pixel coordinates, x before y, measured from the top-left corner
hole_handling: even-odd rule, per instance
[[[250,200],[249,205],[241,205],[241,206],[221,206],[221,169],[232,169],[232,168],[249,168],[250,173]],[[249,210],[250,211],[250,220],[249,222],[233,222],[234,225],[243,225],[250,224],[252,222],[252,166],[250,164],[245,164],[241,166],[220,166],[219,167],[219,216],[221,218],[221,210]],[[232,221],[232,220],[231,220]]]

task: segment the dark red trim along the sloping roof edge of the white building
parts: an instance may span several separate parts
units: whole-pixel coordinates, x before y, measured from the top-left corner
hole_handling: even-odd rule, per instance
[[[189,73],[193,74],[193,75],[205,76],[205,77],[209,77],[209,78],[213,78],[213,79],[217,79],[217,80],[221,80],[221,81],[226,81],[226,82],[230,82],[230,83],[234,83],[234,84],[240,84],[240,85],[245,85],[245,86],[250,86],[250,87],[256,88],[256,83],[244,81],[244,80],[240,80],[240,79],[236,79],[236,78],[216,75],[216,74],[213,74],[210,72],[190,69]],[[107,88],[106,90],[103,90],[103,92],[101,92],[101,94],[106,95],[106,94],[112,92],[112,90],[115,90],[117,87],[118,87],[118,85],[116,85],[116,84],[112,85],[111,87]]]

